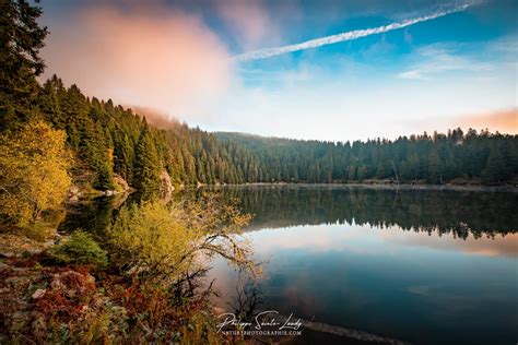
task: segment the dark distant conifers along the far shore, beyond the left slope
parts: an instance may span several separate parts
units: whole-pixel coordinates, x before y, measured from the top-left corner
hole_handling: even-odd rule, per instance
[[[248,151],[242,162],[248,182],[345,182],[390,179],[445,183],[454,179],[505,182],[518,171],[518,135],[460,128],[447,134],[395,141],[322,142],[216,133]],[[251,159],[250,159],[251,158]]]

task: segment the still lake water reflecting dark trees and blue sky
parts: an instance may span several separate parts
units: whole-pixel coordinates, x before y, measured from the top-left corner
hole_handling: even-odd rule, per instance
[[[264,261],[260,310],[415,344],[517,344],[518,193],[350,187],[222,193],[255,215],[245,237]],[[62,229],[102,229],[113,209],[106,198],[82,204]],[[221,293],[216,302],[232,310],[238,273],[216,260],[210,278]]]

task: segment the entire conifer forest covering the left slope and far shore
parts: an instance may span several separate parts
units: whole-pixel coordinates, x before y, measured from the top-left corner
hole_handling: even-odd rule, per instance
[[[16,117],[22,112],[16,103],[3,105],[2,131],[23,127],[31,117],[66,131],[76,167],[94,172],[93,187],[99,190],[114,188],[114,174],[137,189],[156,189],[163,170],[175,185],[384,179],[499,183],[518,171],[518,136],[486,130],[455,129],[395,141],[303,141],[210,133],[175,121],[158,129],[130,108],[89,98],[76,85],[67,87],[56,75],[42,85],[34,81],[28,96],[31,116]]]

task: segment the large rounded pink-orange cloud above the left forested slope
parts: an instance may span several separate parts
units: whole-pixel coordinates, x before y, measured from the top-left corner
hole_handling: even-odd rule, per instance
[[[91,96],[169,116],[208,114],[229,86],[225,46],[199,17],[153,4],[84,8],[50,27],[47,75],[57,73]]]

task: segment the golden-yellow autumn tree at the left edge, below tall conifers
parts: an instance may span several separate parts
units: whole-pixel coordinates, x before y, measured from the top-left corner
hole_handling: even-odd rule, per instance
[[[0,135],[0,219],[20,226],[63,201],[71,179],[67,134],[42,120]]]

